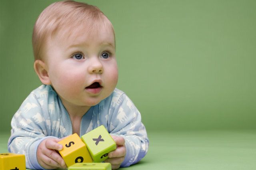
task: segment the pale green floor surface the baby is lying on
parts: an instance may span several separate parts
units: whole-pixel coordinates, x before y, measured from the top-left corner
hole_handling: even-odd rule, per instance
[[[0,134],[0,153],[9,134]],[[126,170],[256,170],[256,130],[148,132],[148,154]]]

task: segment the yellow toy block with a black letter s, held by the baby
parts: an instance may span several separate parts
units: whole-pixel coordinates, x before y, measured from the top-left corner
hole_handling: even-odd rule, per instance
[[[74,133],[58,143],[63,146],[63,149],[59,152],[68,167],[78,162],[92,162],[86,144],[78,134]]]

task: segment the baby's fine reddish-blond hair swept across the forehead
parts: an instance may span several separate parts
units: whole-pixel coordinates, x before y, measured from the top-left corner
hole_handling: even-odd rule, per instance
[[[64,31],[66,37],[76,32],[80,26],[86,26],[86,31],[90,32],[99,29],[99,26],[114,28],[108,18],[96,6],[73,0],[55,2],[45,8],[38,16],[34,25],[32,35],[32,45],[34,59],[43,59],[43,49],[48,38],[57,32]]]

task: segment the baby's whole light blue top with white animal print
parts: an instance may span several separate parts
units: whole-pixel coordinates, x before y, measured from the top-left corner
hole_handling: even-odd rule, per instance
[[[8,150],[25,154],[26,168],[44,169],[36,152],[42,140],[63,138],[72,134],[68,112],[50,85],[41,85],[28,95],[12,118]],[[128,96],[115,89],[113,93],[92,106],[82,117],[80,136],[103,125],[110,134],[125,139],[126,156],[121,167],[140,161],[148,151],[148,137],[138,109]]]

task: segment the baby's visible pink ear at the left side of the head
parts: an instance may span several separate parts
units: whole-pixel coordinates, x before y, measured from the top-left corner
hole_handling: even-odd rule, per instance
[[[51,84],[48,71],[46,69],[46,64],[44,63],[44,61],[36,60],[34,63],[34,69],[43,84],[45,85]]]

